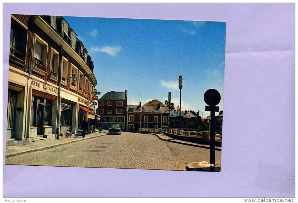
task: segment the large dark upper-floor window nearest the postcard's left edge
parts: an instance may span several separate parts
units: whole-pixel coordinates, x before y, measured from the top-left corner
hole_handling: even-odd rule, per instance
[[[11,18],[10,27],[10,55],[21,59],[25,65],[27,46],[27,29]]]

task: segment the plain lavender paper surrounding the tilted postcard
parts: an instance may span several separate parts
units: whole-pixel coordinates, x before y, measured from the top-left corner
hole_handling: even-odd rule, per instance
[[[224,127],[220,173],[5,165],[4,151],[4,197],[294,196],[294,3],[4,4],[3,126],[12,13],[226,21]]]

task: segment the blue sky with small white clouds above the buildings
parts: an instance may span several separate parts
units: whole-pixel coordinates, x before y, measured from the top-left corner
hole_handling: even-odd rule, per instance
[[[181,110],[205,112],[207,89],[222,96],[225,22],[64,17],[94,62],[97,91],[128,90],[128,104],[158,99],[168,92],[179,105],[178,76],[183,76]]]

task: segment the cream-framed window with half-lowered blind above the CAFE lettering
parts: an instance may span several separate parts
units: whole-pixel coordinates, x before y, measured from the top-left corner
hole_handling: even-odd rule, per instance
[[[33,70],[44,75],[46,72],[47,43],[34,34],[34,63]]]

